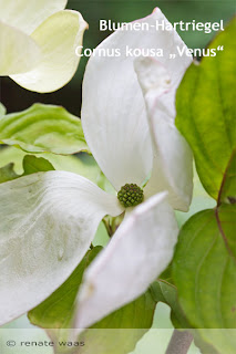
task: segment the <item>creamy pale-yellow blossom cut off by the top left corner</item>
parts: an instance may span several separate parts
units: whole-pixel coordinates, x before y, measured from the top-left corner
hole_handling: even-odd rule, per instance
[[[0,0],[0,75],[52,92],[74,75],[86,22],[66,0]]]

